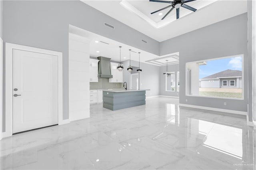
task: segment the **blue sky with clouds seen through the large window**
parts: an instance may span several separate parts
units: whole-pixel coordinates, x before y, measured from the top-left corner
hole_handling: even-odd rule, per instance
[[[226,69],[242,71],[242,57],[232,57],[207,61],[206,65],[199,66],[199,79],[224,71]]]

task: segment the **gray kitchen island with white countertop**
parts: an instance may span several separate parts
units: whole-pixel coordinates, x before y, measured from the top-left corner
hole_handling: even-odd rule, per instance
[[[103,90],[103,107],[112,111],[146,104],[146,90]]]

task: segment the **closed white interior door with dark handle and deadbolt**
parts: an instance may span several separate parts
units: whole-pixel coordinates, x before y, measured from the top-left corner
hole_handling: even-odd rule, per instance
[[[13,133],[58,124],[58,57],[13,50]]]

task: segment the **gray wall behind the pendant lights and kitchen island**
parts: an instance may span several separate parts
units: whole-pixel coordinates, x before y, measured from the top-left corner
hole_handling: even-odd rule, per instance
[[[123,81],[127,82],[127,88],[130,88],[130,73],[127,71],[129,66],[129,60],[122,62],[124,66],[123,70]],[[131,65],[133,67],[138,67],[139,62],[131,60]],[[159,85],[160,85],[160,67],[156,65],[151,65],[147,63],[140,63],[140,89],[150,89],[146,91],[146,97],[158,96],[159,95]]]

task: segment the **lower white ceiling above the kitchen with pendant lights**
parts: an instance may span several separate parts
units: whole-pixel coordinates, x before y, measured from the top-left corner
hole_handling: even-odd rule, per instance
[[[132,47],[130,45],[126,45],[124,43],[120,43],[114,40],[111,40],[109,38],[100,36],[98,34],[94,34],[92,32],[83,30],[81,28],[75,27],[70,25],[69,26],[69,32],[72,34],[76,34],[78,36],[82,36],[82,37],[86,37],[90,40],[90,56],[91,57],[98,57],[98,56],[103,56],[103,57],[108,57],[111,58],[112,61],[119,61],[120,60],[120,48],[119,46],[122,46],[121,48],[121,61],[126,61],[129,59],[129,49],[132,49],[131,52],[131,60],[134,61],[139,61],[139,54],[138,52],[140,52],[140,62],[143,63],[150,63],[152,65],[165,65],[166,63],[166,59],[164,59],[164,63],[160,64],[160,63],[153,63],[153,62],[146,62],[148,60],[152,60],[152,59],[157,59],[160,61],[161,57],[173,57],[174,55],[178,56],[179,53],[172,53],[172,54],[168,54],[168,55],[163,55],[163,56],[158,56],[143,50],[140,50],[138,48]],[[98,43],[96,43],[95,41],[98,41]],[[105,42],[105,43],[102,43]],[[108,44],[106,44],[108,43]],[[98,52],[97,52],[98,51]]]

